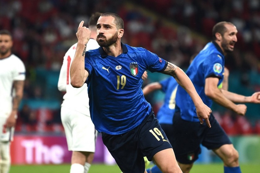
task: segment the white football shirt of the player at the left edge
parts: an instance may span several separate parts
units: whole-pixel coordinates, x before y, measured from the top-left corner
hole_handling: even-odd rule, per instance
[[[22,60],[12,54],[0,59],[0,117],[7,118],[12,111],[14,96],[13,82],[25,80],[25,66]]]

